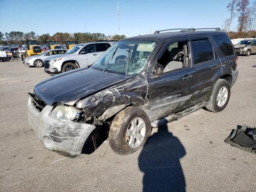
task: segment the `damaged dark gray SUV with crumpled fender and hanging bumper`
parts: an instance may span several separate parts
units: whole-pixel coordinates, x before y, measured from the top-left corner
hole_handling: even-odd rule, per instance
[[[237,65],[219,28],[126,38],[89,68],[38,83],[29,93],[28,120],[48,150],[65,156],[79,156],[96,127],[109,130],[114,152],[130,154],[146,143],[152,127],[202,107],[224,110]]]

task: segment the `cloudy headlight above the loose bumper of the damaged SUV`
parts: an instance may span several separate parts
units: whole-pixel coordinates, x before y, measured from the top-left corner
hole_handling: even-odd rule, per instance
[[[80,117],[80,110],[69,106],[57,106],[52,110],[51,117],[64,121],[78,121]]]

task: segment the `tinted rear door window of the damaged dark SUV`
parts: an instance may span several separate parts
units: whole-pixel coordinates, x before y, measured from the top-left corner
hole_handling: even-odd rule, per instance
[[[214,60],[213,46],[208,39],[194,40],[191,42],[194,64]]]

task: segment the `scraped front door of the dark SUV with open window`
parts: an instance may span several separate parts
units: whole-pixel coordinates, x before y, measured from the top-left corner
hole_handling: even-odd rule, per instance
[[[186,56],[185,56],[186,55]],[[182,38],[166,42],[156,56],[160,76],[147,74],[147,103],[152,110],[151,120],[156,120],[190,106],[194,93],[194,68],[191,64],[190,41]]]

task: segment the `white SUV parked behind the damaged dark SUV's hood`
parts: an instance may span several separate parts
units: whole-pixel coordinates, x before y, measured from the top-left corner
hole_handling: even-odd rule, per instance
[[[54,75],[92,65],[115,42],[82,43],[64,55],[51,56],[44,61],[44,72]]]

